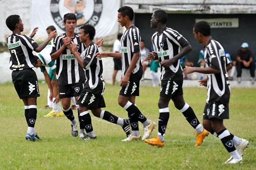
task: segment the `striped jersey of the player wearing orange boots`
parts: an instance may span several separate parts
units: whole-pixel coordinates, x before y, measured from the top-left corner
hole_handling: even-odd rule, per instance
[[[180,53],[181,48],[189,45],[189,42],[177,31],[165,28],[163,33],[158,32],[152,36],[153,50],[157,53],[160,62],[171,59]],[[180,60],[165,68],[161,66],[162,80],[183,80],[183,70]]]

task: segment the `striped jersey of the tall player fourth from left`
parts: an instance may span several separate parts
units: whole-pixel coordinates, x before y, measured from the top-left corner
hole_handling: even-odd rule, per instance
[[[140,52],[140,39],[139,29],[135,26],[130,27],[123,33],[121,38],[122,77],[130,66],[133,54]],[[143,70],[139,58],[130,76],[130,81],[139,81],[142,78],[142,74]]]

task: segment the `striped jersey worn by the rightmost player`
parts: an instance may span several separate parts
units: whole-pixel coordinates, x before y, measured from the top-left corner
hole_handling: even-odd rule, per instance
[[[230,84],[227,80],[226,65],[228,60],[224,48],[218,41],[211,39],[204,51],[205,67],[219,69],[218,74],[209,74],[207,83],[207,103],[219,102],[228,104],[230,98]]]

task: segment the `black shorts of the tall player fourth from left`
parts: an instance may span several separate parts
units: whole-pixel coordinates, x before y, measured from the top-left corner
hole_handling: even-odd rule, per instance
[[[139,96],[140,95],[140,81],[129,81],[128,85],[125,87],[121,87],[119,95],[130,97],[132,95]]]

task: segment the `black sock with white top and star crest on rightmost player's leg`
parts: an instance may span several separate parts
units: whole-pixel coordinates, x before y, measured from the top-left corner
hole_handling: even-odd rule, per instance
[[[226,148],[226,150],[230,153],[236,150],[234,147],[233,141],[231,139],[230,133],[227,129],[223,129],[218,134],[218,137],[221,139],[222,144]]]

